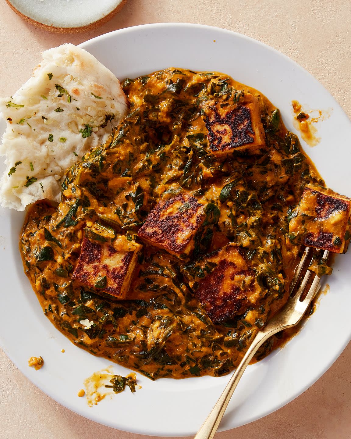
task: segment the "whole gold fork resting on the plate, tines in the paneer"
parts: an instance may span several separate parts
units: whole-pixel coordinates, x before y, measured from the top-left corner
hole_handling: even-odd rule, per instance
[[[315,276],[311,287],[308,289],[307,294],[304,295],[304,290],[306,288],[309,277],[312,272],[307,270],[304,275],[296,293],[294,292],[295,285],[299,281],[301,271],[305,265],[306,259],[310,254],[310,247],[306,247],[302,255],[301,261],[295,270],[294,277],[290,283],[290,297],[279,313],[275,314],[271,320],[266,324],[266,326],[258,331],[255,335],[249,349],[245,353],[240,364],[236,368],[233,376],[230,378],[229,383],[224,389],[222,395],[219,397],[215,407],[213,407],[211,413],[208,415],[206,421],[202,424],[200,430],[195,435],[194,439],[212,439],[217,431],[218,425],[222,420],[224,412],[228,406],[230,398],[233,395],[236,386],[242,377],[247,365],[250,363],[252,357],[257,352],[258,348],[268,340],[269,337],[276,334],[283,329],[287,329],[296,326],[304,314],[306,313],[308,306],[310,305],[312,299],[314,298],[318,287],[320,277]],[[327,259],[329,252],[326,250],[323,253],[323,259]],[[301,296],[304,295],[304,299]]]

